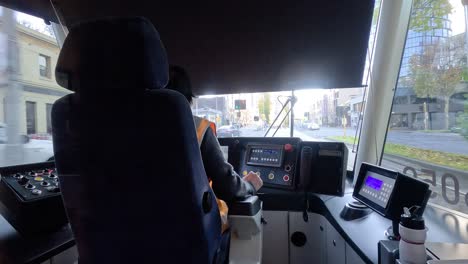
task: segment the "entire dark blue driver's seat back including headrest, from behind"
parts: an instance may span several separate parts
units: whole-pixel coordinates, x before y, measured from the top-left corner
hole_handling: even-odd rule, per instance
[[[54,153],[80,263],[211,263],[220,218],[185,98],[146,19],[70,29]]]

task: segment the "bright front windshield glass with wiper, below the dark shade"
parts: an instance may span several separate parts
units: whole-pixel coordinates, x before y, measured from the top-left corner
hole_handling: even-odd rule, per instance
[[[344,142],[352,170],[363,98],[364,88],[200,96],[194,99],[192,112],[214,122],[218,137],[294,136]]]

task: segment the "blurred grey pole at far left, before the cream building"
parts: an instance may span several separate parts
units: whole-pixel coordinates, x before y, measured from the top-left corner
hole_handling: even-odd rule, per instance
[[[13,10],[3,8],[3,30],[7,38],[7,91],[5,96],[7,144],[4,161],[19,164],[23,161],[23,146],[20,141],[20,96],[21,86],[18,83],[18,45],[16,41],[16,18]],[[2,164],[6,165],[6,164]]]

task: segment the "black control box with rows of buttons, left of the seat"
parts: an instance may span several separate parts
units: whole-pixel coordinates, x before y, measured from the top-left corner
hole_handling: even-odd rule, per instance
[[[54,162],[0,168],[3,216],[28,234],[68,222]]]

